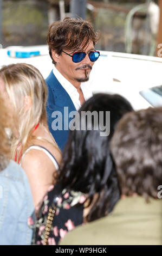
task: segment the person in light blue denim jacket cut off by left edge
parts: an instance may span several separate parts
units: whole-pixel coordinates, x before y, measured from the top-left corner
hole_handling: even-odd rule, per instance
[[[5,133],[9,119],[0,97],[0,245],[30,245],[33,230],[27,221],[34,212],[34,203],[27,175],[9,160],[9,139]]]

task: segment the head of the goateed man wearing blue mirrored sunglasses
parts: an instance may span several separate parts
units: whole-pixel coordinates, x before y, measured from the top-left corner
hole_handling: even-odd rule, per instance
[[[67,17],[63,21],[52,23],[48,30],[47,42],[53,64],[70,82],[88,81],[94,61],[91,61],[86,54],[80,62],[74,62],[80,60],[79,56],[75,54],[72,58],[68,54],[94,51],[95,43],[99,38],[99,33],[94,31],[92,25],[81,18]]]

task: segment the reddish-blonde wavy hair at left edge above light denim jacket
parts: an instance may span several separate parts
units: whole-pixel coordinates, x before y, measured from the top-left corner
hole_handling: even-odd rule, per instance
[[[4,100],[0,94],[0,171],[3,170],[8,162],[10,156],[9,139],[5,128],[10,126],[7,108],[5,107]]]

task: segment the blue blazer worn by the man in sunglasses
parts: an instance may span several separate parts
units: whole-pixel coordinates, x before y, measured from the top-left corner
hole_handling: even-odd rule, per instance
[[[55,77],[53,70],[46,78],[48,88],[47,121],[49,131],[57,145],[63,150],[69,135],[69,113],[76,112],[72,99]]]

